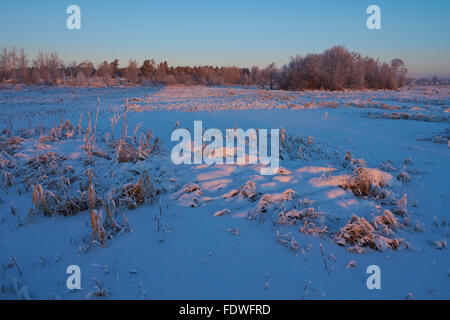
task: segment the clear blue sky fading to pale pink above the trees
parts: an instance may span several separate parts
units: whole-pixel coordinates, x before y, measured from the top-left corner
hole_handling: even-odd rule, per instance
[[[81,8],[81,30],[66,28],[71,4]],[[366,27],[371,4],[381,8],[382,30]],[[449,16],[449,0],[3,0],[0,47],[23,47],[32,58],[57,51],[66,63],[249,67],[341,44],[402,58],[410,76],[450,76]]]

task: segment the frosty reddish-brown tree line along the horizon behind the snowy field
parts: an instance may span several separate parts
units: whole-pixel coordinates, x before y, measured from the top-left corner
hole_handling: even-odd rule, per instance
[[[258,85],[270,89],[398,89],[406,83],[408,70],[401,59],[381,62],[343,46],[320,54],[292,57],[277,68],[169,66],[153,59],[138,65],[130,60],[126,67],[119,60],[94,66],[91,61],[65,65],[56,52],[39,52],[30,60],[23,48],[2,48],[0,83],[26,85],[117,86],[151,84]]]

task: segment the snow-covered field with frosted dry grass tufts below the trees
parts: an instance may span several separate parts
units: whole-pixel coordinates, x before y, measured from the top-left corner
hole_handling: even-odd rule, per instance
[[[449,94],[1,88],[0,299],[449,299]],[[174,165],[195,120],[278,174]]]

